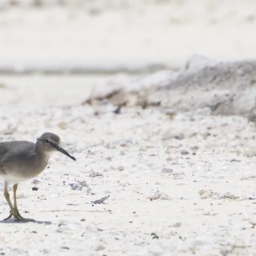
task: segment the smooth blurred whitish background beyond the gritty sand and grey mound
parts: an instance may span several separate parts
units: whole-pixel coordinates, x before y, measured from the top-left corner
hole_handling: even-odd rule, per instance
[[[193,54],[255,58],[255,13],[254,0],[0,0],[0,103],[79,103]]]

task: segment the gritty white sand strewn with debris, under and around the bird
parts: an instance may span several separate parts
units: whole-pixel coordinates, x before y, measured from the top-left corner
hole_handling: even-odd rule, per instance
[[[255,160],[246,157],[254,154],[255,128],[239,116],[186,113],[170,120],[161,109],[130,108],[122,115],[112,109],[102,108],[95,117],[88,106],[1,107],[1,133],[10,133],[1,140],[33,141],[52,131],[77,158],[76,164],[55,154],[39,184],[20,183],[21,212],[38,222],[1,223],[1,250],[6,255],[256,253]],[[90,177],[92,172],[102,176]],[[89,190],[68,185],[84,180]],[[106,204],[90,204],[107,195]],[[9,210],[2,199],[3,219]]]

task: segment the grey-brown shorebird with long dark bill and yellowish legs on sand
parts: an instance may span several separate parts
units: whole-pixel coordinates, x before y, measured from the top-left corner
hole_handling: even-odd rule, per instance
[[[35,221],[20,215],[16,196],[18,184],[43,172],[52,153],[56,151],[76,161],[74,156],[60,146],[60,137],[52,132],[44,132],[36,138],[36,143],[24,140],[0,143],[0,178],[4,180],[4,198],[10,207],[10,215],[4,221],[12,216],[17,221]],[[13,184],[13,205],[8,192],[10,183]]]

